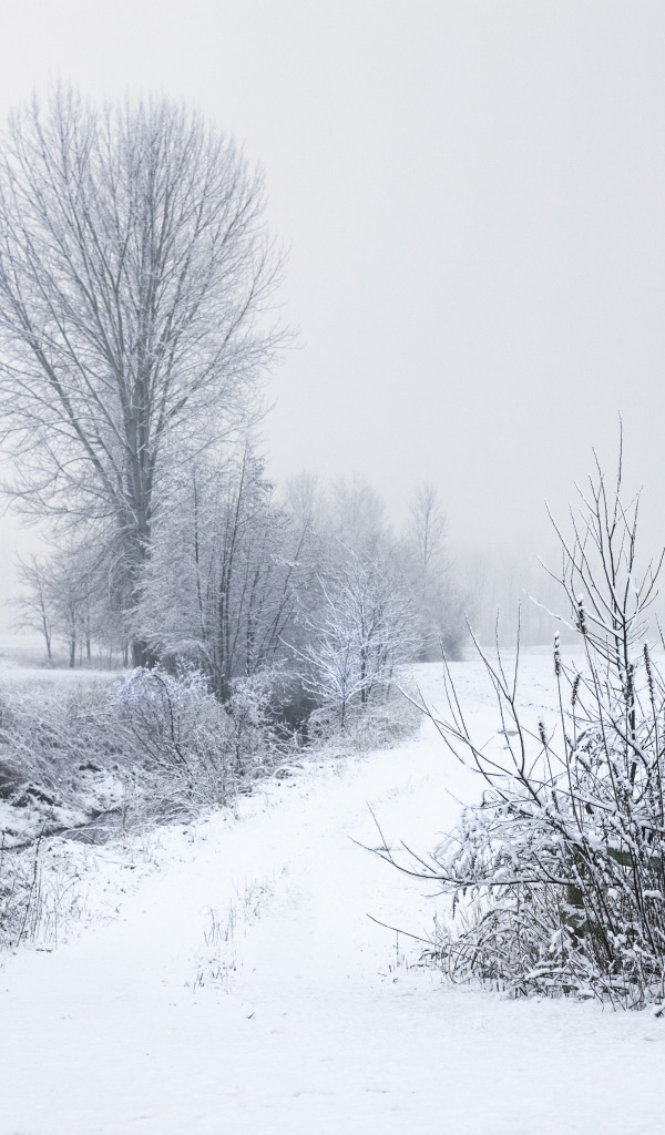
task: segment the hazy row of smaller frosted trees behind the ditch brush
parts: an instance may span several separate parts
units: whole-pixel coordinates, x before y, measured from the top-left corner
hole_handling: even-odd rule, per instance
[[[154,526],[138,598],[124,611],[109,546],[58,548],[22,564],[24,624],[53,638],[70,666],[131,663],[131,634],[171,670],[199,667],[220,701],[270,680],[293,724],[326,707],[348,714],[382,697],[399,663],[458,655],[462,598],[431,487],[396,536],[361,480],[328,488],[303,476],[278,490],[251,447],[183,472]]]

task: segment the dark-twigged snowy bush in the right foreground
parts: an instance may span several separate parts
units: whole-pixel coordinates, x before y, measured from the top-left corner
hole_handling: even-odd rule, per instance
[[[453,897],[436,953],[456,978],[515,994],[664,998],[665,679],[647,613],[663,557],[640,571],[639,497],[623,505],[597,465],[559,581],[580,664],[555,639],[557,720],[530,722],[508,672],[480,647],[500,711],[500,747],[471,735],[448,679],[449,748],[485,781],[480,801],[415,873]],[[461,925],[460,925],[461,924]]]

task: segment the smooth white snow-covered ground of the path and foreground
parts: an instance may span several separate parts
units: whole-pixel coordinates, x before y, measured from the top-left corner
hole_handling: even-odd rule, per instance
[[[537,715],[550,662],[527,665]],[[490,735],[479,667],[455,669]],[[440,704],[439,673],[419,680]],[[86,849],[104,917],[0,972],[1,1135],[665,1130],[663,1020],[447,987],[368,918],[427,934],[436,909],[353,842],[380,842],[368,804],[388,843],[427,850],[454,822],[448,790],[477,791],[424,723],[401,749],[306,764],[236,816]]]

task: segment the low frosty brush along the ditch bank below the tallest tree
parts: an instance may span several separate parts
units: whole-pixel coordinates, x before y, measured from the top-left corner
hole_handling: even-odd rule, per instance
[[[226,707],[192,666],[12,687],[0,691],[0,832],[17,847],[100,816],[118,829],[217,807],[279,753],[259,678],[235,683]]]

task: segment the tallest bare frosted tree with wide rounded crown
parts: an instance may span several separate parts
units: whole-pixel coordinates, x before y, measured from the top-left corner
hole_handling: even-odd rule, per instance
[[[279,342],[263,211],[233,141],[167,101],[95,110],[58,90],[2,140],[10,488],[27,511],[119,533],[129,606],[169,468],[255,412]]]

